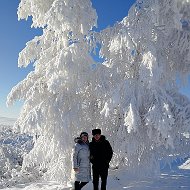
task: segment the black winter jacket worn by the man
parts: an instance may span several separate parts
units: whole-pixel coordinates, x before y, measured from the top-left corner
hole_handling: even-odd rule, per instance
[[[105,136],[101,135],[99,141],[92,138],[89,147],[90,162],[93,164],[93,167],[108,168],[113,155],[113,150]]]

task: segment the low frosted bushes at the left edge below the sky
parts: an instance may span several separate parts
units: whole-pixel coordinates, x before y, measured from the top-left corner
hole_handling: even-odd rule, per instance
[[[31,136],[14,133],[12,126],[0,126],[0,179],[2,187],[10,184],[7,184],[7,181],[13,180],[14,174],[21,171],[23,156],[29,153],[32,148]]]

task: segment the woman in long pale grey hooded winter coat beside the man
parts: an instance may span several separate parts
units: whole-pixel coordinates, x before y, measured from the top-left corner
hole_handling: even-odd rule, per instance
[[[81,190],[90,180],[90,150],[88,133],[82,132],[75,139],[73,169],[75,171],[75,190]]]

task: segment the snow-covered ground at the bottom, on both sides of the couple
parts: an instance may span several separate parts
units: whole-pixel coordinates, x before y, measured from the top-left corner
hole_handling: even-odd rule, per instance
[[[190,168],[190,166],[189,166]],[[20,184],[15,187],[5,188],[3,190],[70,190],[56,182],[35,182],[30,184]],[[108,190],[190,190],[190,170],[176,169],[169,172],[163,172],[157,178],[133,179],[129,180],[127,176],[117,179],[114,173],[109,174]],[[83,190],[93,190],[90,182]]]

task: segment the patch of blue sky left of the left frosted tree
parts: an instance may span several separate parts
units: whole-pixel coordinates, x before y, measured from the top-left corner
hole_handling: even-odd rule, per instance
[[[18,116],[22,104],[7,108],[6,97],[32,69],[32,66],[18,68],[18,54],[27,41],[40,34],[39,30],[31,29],[31,22],[18,21],[18,4],[19,0],[0,1],[0,116],[6,117]]]

